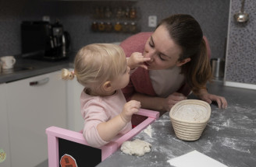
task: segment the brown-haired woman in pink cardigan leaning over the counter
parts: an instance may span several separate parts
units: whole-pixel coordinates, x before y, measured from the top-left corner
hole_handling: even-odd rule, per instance
[[[130,57],[141,52],[150,61],[148,70],[137,68],[123,89],[126,100],[140,101],[142,108],[169,111],[192,90],[198,98],[226,108],[226,99],[208,93],[206,83],[212,79],[207,40],[201,26],[189,15],[178,14],[163,19],[154,33],[138,33],[120,43]]]

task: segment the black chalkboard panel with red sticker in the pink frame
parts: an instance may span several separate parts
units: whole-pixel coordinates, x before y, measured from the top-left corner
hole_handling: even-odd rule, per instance
[[[90,167],[100,162],[101,149],[59,138],[59,167]]]

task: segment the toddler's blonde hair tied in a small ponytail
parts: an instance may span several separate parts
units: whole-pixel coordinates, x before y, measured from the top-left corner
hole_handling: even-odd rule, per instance
[[[76,79],[86,88],[112,81],[126,71],[126,56],[122,47],[112,43],[93,43],[82,47],[76,54],[75,70],[62,69],[62,79]]]

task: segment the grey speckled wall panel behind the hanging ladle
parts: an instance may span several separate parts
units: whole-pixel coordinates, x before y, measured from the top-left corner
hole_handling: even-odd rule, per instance
[[[249,14],[247,23],[236,23],[233,19],[233,15],[239,12],[240,8],[241,1],[232,0],[226,55],[226,85],[256,89],[256,1],[245,1],[244,10]]]

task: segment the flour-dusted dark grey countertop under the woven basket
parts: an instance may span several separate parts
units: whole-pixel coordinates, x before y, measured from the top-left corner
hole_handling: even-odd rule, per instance
[[[208,84],[208,91],[225,96],[226,110],[212,104],[212,115],[197,141],[181,141],[172,128],[169,112],[151,124],[151,137],[141,131],[133,137],[152,144],[142,157],[125,155],[118,150],[100,166],[171,166],[169,159],[197,150],[229,167],[256,164],[256,91],[226,87],[222,82]],[[189,96],[189,99],[196,99]]]

